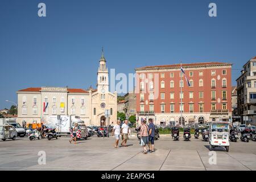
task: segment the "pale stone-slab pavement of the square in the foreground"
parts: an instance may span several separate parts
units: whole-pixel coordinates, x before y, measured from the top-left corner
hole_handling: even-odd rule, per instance
[[[128,147],[114,148],[114,138],[90,137],[69,144],[28,138],[0,141],[0,170],[256,170],[256,142],[230,142],[226,152],[217,148],[216,164],[209,164],[208,142],[201,138],[173,141],[170,136],[155,142],[156,151],[142,154],[136,137]],[[46,164],[38,164],[38,152],[46,152]],[[149,168],[151,166],[151,168]]]

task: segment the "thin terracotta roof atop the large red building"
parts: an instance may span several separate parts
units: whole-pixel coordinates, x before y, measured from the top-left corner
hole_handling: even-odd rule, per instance
[[[221,63],[221,62],[206,62],[206,63],[189,63],[182,64],[182,67],[209,67],[216,65],[232,65],[231,63]],[[163,68],[180,68],[180,64],[170,64],[170,65],[155,65],[155,66],[146,66],[141,68],[135,68],[135,70],[139,69],[163,69]]]

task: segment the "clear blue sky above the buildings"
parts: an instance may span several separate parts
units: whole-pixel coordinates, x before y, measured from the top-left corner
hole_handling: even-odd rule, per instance
[[[38,17],[38,3],[47,17]],[[217,18],[208,16],[210,2]],[[96,87],[104,46],[109,68],[195,61],[233,63],[256,56],[256,1],[1,0],[0,109],[16,90],[35,86]]]

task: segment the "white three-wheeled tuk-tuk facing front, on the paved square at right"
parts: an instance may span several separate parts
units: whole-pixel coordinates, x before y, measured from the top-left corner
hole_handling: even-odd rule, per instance
[[[211,122],[209,128],[210,150],[215,147],[225,147],[229,151],[229,122]]]

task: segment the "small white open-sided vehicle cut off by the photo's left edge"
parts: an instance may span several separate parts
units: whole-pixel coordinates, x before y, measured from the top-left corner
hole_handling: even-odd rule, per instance
[[[13,125],[5,123],[5,125],[0,125],[0,139],[5,141],[6,139],[13,139],[17,137],[17,131]]]

